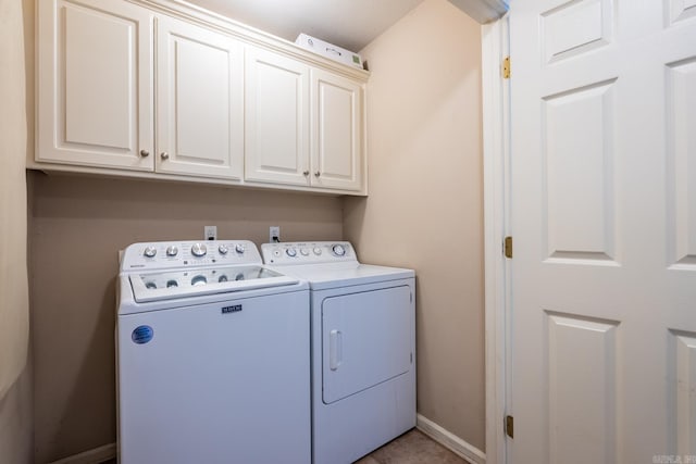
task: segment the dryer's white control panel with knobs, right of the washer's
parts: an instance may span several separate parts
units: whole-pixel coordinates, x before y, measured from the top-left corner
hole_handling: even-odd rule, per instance
[[[357,261],[352,246],[347,241],[288,241],[263,243],[261,254],[265,264],[318,264]]]

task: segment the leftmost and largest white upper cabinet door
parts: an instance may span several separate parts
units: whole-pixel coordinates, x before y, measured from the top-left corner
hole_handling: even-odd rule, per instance
[[[36,160],[152,171],[152,14],[116,0],[37,5]]]

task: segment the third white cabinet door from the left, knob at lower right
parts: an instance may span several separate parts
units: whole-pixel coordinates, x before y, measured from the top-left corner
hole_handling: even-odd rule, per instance
[[[246,72],[248,180],[309,185],[309,68],[249,48]]]

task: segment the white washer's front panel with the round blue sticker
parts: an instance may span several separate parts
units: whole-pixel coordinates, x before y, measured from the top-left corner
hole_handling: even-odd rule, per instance
[[[119,317],[122,463],[310,461],[309,293]]]

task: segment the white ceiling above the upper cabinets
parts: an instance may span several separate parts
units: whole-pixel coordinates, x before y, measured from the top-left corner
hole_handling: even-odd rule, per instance
[[[300,33],[360,51],[423,0],[188,0],[295,41]]]

